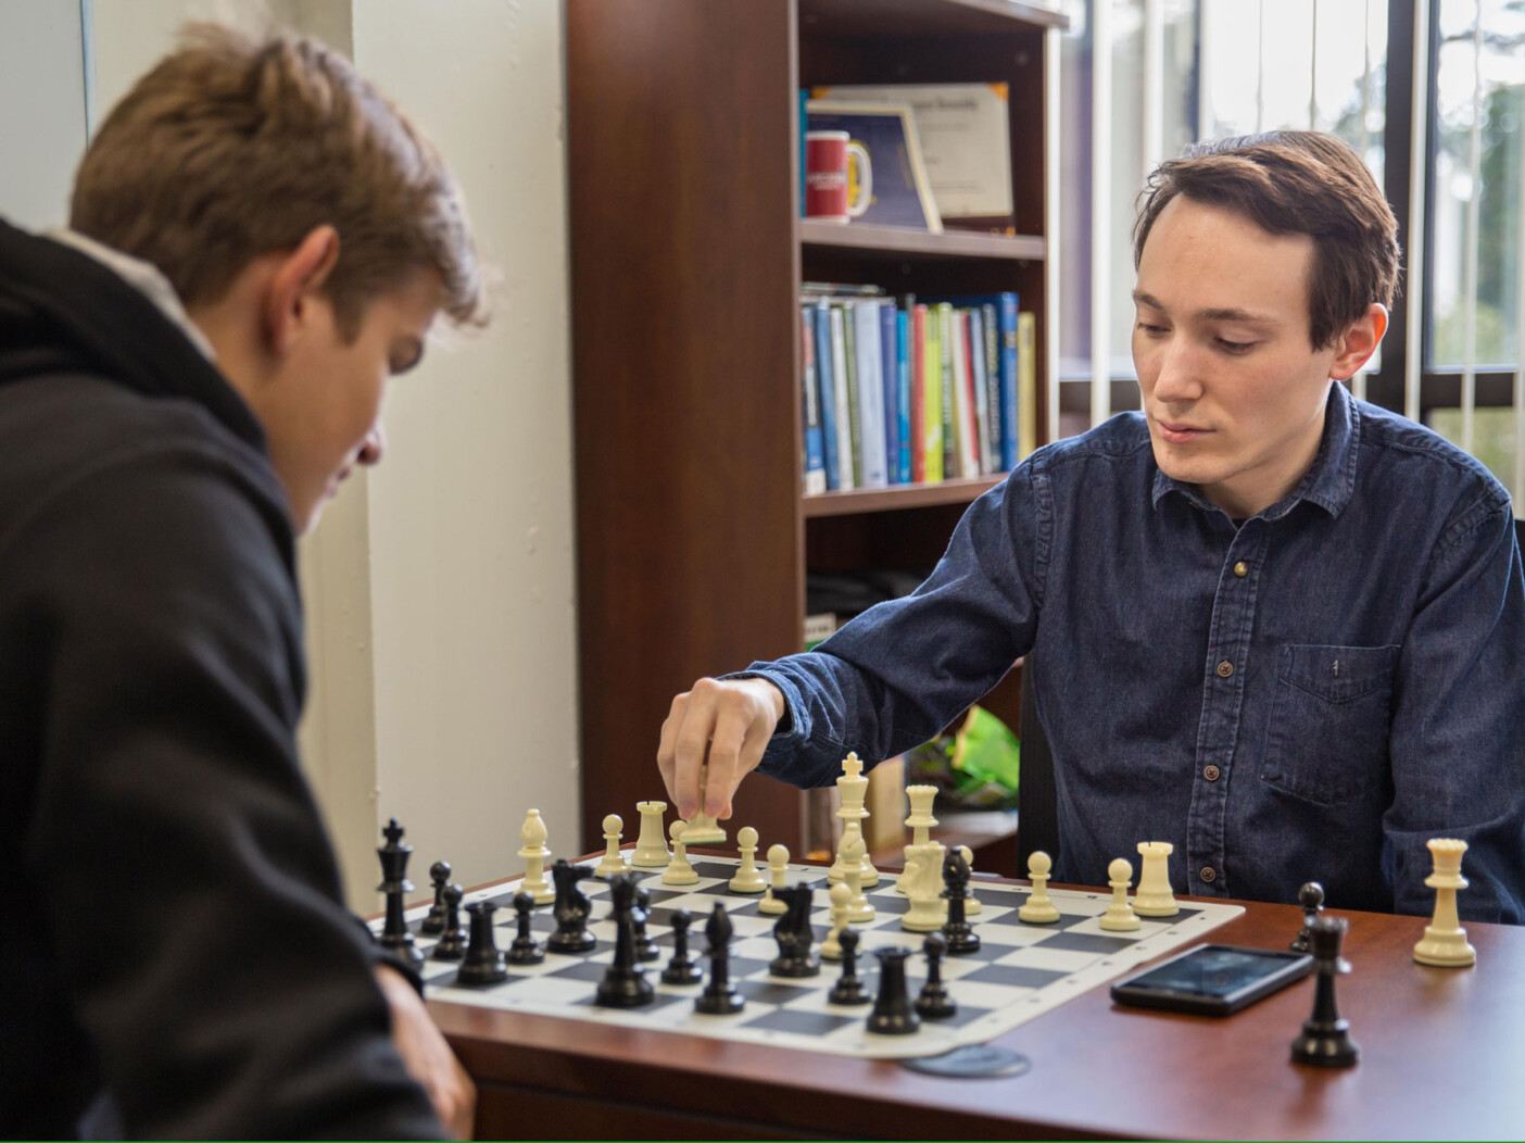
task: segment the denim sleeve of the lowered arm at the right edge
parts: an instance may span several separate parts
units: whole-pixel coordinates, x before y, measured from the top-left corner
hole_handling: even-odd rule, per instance
[[[1427,914],[1426,841],[1467,842],[1458,905],[1525,920],[1525,581],[1502,491],[1461,511],[1430,555],[1398,658],[1385,865],[1398,913]]]

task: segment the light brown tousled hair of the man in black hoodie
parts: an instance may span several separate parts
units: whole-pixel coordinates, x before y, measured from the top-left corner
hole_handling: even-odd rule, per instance
[[[186,305],[325,223],[342,328],[415,270],[456,324],[485,320],[465,204],[433,145],[314,40],[195,24],[122,98],[75,175],[70,226],[159,267]]]

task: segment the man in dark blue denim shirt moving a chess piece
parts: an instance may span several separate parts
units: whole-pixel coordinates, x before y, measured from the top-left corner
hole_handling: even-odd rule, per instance
[[[1344,386],[1386,330],[1397,224],[1340,140],[1193,148],[1135,227],[1142,414],[1040,449],[932,577],[807,655],[674,699],[688,816],[761,769],[935,736],[1035,652],[1055,877],[1174,844],[1177,891],[1427,913],[1435,836],[1469,919],[1525,917],[1525,586],[1505,490]]]

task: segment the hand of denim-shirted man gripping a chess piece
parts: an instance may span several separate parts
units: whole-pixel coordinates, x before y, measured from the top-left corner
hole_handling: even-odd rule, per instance
[[[657,768],[679,816],[688,821],[703,810],[729,818],[737,786],[762,761],[782,717],[784,693],[767,679],[700,679],[673,699]],[[698,771],[705,765],[709,777],[700,804]]]

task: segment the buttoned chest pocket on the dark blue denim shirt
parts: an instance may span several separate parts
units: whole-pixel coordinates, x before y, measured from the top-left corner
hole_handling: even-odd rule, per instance
[[[1260,777],[1324,806],[1382,789],[1397,647],[1286,644]]]

